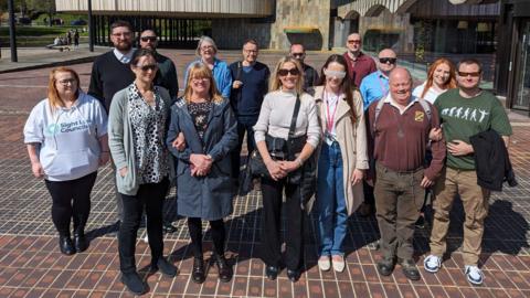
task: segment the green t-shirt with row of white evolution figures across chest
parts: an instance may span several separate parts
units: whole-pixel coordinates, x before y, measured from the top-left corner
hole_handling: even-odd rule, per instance
[[[492,129],[501,136],[510,136],[511,125],[499,99],[489,92],[483,91],[473,98],[462,97],[459,89],[451,89],[438,96],[434,103],[443,125],[445,140],[463,140]],[[447,167],[460,170],[475,170],[473,155],[454,157],[447,152]]]

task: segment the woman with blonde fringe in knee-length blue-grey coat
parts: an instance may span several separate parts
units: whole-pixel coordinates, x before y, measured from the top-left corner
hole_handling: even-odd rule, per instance
[[[232,213],[232,151],[237,145],[236,121],[204,64],[189,68],[184,95],[171,108],[167,143],[177,157],[177,213],[188,217],[193,251],[192,280],[205,278],[202,258],[202,221],[210,221],[215,263],[221,281],[232,279],[224,258],[223,217]],[[186,145],[182,143],[182,132]],[[179,150],[181,149],[181,150]]]

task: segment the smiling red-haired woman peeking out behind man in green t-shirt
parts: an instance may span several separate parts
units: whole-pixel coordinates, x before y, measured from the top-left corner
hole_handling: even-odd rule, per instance
[[[438,95],[456,88],[456,68],[453,62],[441,57],[431,64],[427,79],[412,92],[412,95],[434,104]]]

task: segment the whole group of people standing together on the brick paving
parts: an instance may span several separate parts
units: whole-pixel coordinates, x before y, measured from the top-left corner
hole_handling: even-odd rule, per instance
[[[33,174],[45,179],[52,195],[62,253],[87,248],[89,194],[98,167],[112,157],[127,288],[135,294],[148,289],[135,260],[144,212],[151,269],[170,277],[178,272],[163,257],[162,232],[171,224],[165,223],[162,209],[171,184],[177,187],[177,213],[188,219],[192,280],[205,279],[202,221],[208,221],[219,279],[230,281],[223,219],[233,211],[246,135],[248,151],[261,156],[268,172],[261,178],[261,257],[268,278],[275,279],[284,264],[290,280],[300,277],[304,213],[314,205],[321,270],[344,269],[348,217],[359,210],[377,214],[383,255],[378,272],[390,275],[399,263],[406,277],[418,279],[414,224],[425,190],[434,187],[432,255],[425,269],[441,267],[448,213],[458,193],[466,212],[465,272],[470,283],[481,284],[478,256],[489,191],[476,183],[469,138],[491,129],[508,145],[511,127],[497,98],[479,88],[477,61],[464,60],[456,70],[451,61],[437,60],[427,81],[413,91],[411,74],[396,66],[396,54],[385,49],[375,63],[361,52],[357,33],[348,36],[348,52],[330,55],[320,73],[305,64],[301,44],[293,44],[271,72],[257,62],[256,41],[245,41],[243,60],[227,65],[216,58],[214,41],[203,36],[178,97],[174,64],[156,51],[155,31],[142,31],[135,50],[132,28],[117,21],[110,39],[115,47],[94,62],[88,94],[80,88],[75,71],[53,70],[47,98],[33,108],[24,127]],[[277,151],[284,142],[288,155]],[[297,179],[311,162],[317,169],[314,189]],[[315,193],[314,204],[306,200],[307,188]]]

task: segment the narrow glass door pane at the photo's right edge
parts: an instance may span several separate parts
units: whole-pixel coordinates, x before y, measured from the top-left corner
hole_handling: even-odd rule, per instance
[[[518,47],[513,108],[530,110],[530,20],[521,23]]]

